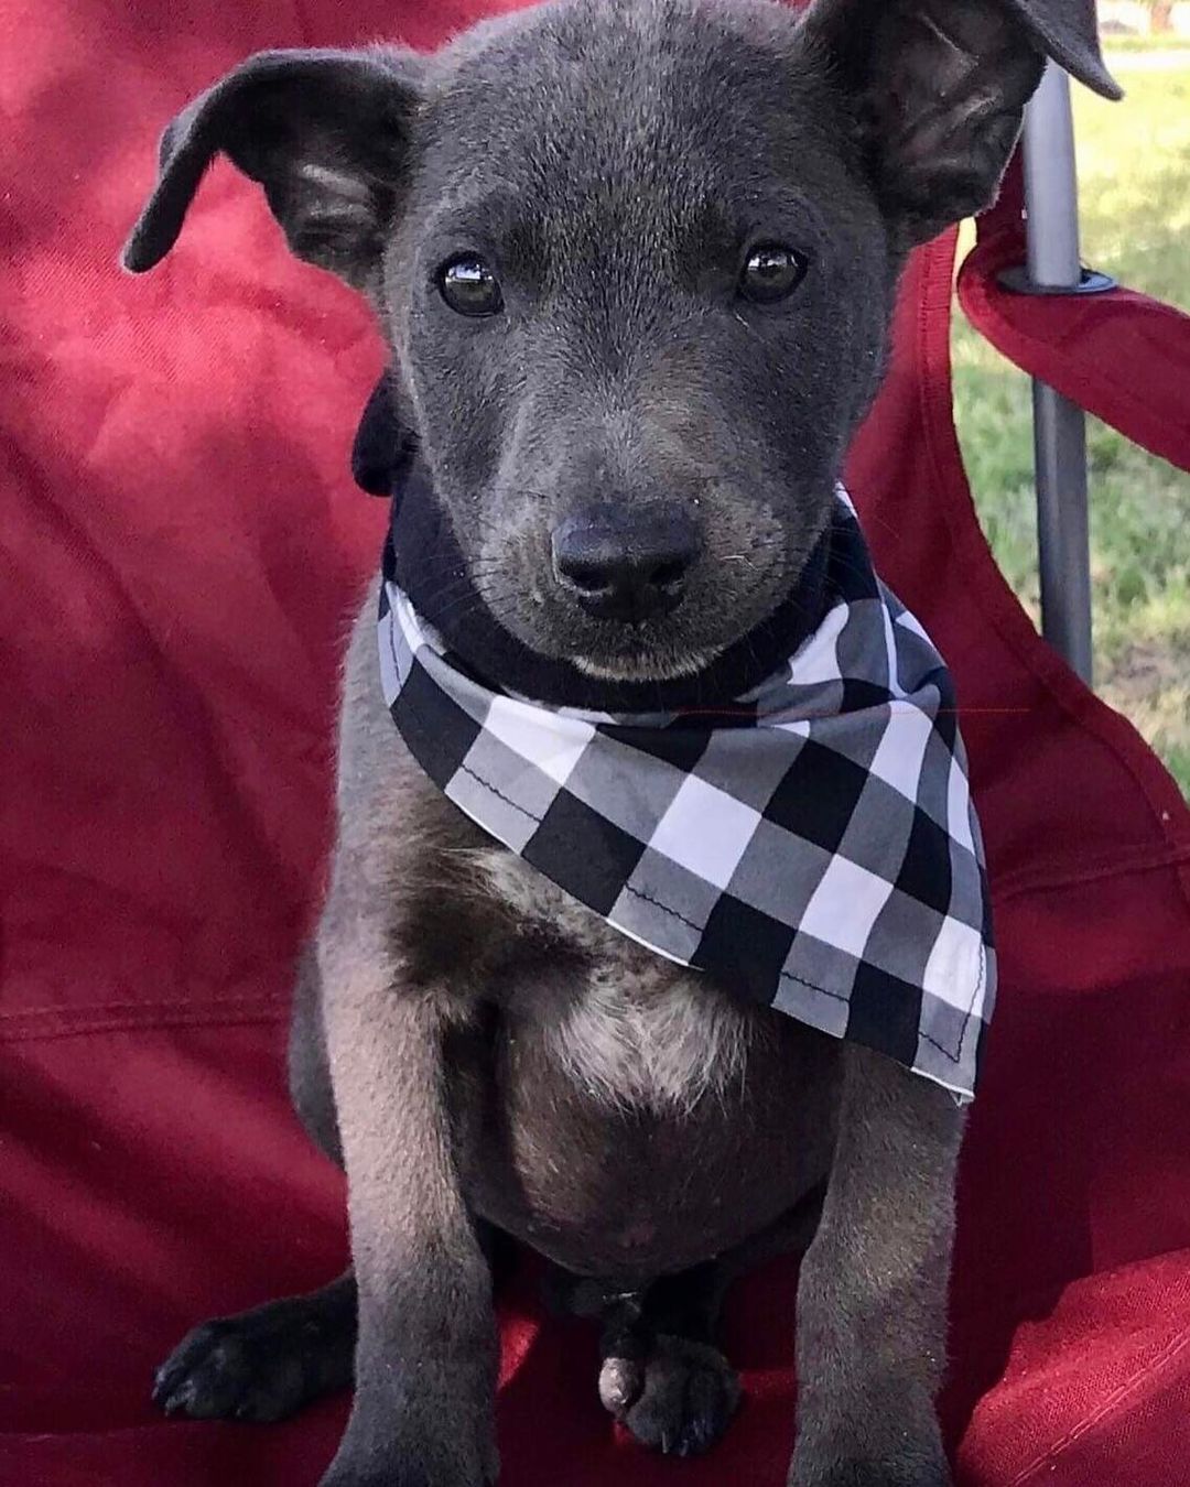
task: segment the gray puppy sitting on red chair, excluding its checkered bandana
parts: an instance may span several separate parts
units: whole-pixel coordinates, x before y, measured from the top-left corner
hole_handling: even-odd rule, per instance
[[[721,700],[821,613],[901,265],[994,196],[1046,55],[1117,95],[1092,0],[561,0],[428,57],[266,54],[170,126],[125,262],[228,155],[376,309],[421,451],[402,581],[454,648],[559,703]],[[800,1246],[790,1483],[948,1483],[953,1099],[482,836],[405,752],[375,613],[292,1041],[354,1265],[198,1328],[158,1399],[275,1419],[354,1377],[324,1487],[479,1487],[503,1234],[602,1316],[607,1408],[698,1451],[738,1399],[723,1288]]]

